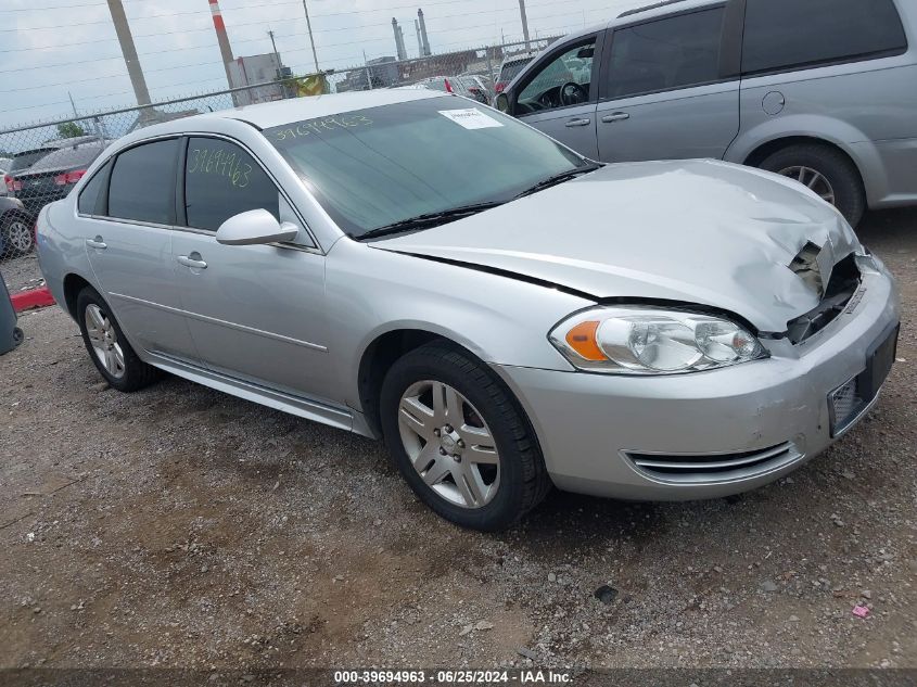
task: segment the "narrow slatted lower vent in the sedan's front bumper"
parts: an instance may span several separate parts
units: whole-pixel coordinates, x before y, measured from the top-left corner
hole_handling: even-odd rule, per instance
[[[802,458],[792,442],[733,454],[637,454],[627,458],[655,480],[682,484],[712,484],[753,478]]]

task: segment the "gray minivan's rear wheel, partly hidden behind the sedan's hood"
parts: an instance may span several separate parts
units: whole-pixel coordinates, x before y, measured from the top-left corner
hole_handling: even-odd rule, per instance
[[[761,168],[805,185],[855,227],[866,212],[863,179],[851,160],[829,145],[789,145],[767,156]]]

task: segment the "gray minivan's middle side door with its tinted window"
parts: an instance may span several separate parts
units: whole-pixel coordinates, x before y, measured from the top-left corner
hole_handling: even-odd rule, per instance
[[[599,158],[722,158],[739,131],[739,3],[616,26],[597,107]]]

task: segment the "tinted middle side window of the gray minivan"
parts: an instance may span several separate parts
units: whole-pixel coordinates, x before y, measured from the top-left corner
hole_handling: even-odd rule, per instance
[[[724,13],[713,8],[615,29],[604,98],[718,80]]]

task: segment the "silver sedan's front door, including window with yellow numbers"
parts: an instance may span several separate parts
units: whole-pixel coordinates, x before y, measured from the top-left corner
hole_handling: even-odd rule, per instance
[[[187,229],[173,260],[191,334],[215,372],[276,390],[328,398],[324,256],[302,220],[244,149],[191,138],[184,164]],[[222,245],[229,217],[264,208],[301,227],[295,244]]]

